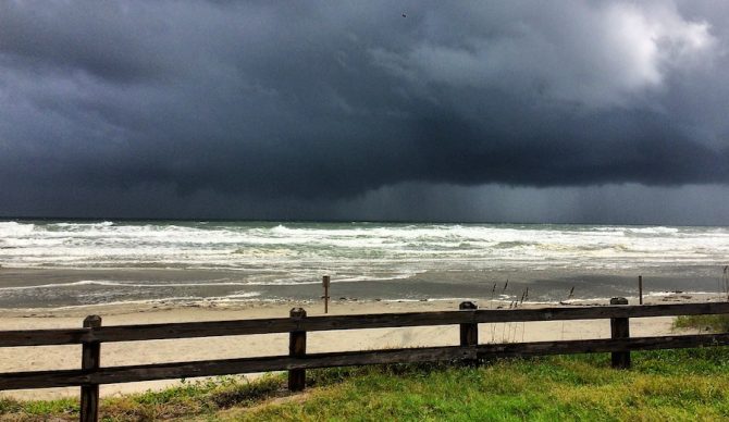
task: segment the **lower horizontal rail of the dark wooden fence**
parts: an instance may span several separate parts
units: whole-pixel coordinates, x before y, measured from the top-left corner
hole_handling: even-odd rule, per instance
[[[610,352],[627,350],[679,349],[729,345],[729,333],[620,339],[512,343],[479,346],[446,346],[416,349],[387,349],[313,353],[306,357],[263,357],[197,362],[143,364],[82,370],[16,372],[0,374],[0,390],[62,387],[82,384],[112,384],[136,381],[170,380],[236,373],[283,371],[379,363],[472,360],[483,358]]]

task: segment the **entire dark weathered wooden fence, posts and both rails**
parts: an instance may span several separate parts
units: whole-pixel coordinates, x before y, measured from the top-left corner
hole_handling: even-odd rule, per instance
[[[615,298],[610,300],[610,306],[480,310],[471,302],[462,302],[459,310],[454,311],[336,316],[307,316],[304,309],[295,308],[288,318],[116,326],[103,326],[100,316],[91,315],[84,320],[83,327],[79,328],[0,332],[0,347],[83,346],[81,369],[2,373],[0,390],[81,386],[81,420],[96,421],[100,384],[287,370],[288,387],[300,390],[305,387],[305,371],[312,368],[450,360],[477,362],[486,358],[582,352],[611,352],[615,368],[628,368],[631,350],[729,345],[729,333],[630,337],[629,330],[630,318],[729,313],[729,302],[647,306],[627,303],[623,298]],[[503,344],[478,342],[478,324],[481,323],[598,319],[610,319],[610,338]],[[460,344],[367,351],[306,352],[308,332],[428,325],[459,325]],[[289,333],[288,355],[124,367],[99,364],[101,343],[272,333]]]

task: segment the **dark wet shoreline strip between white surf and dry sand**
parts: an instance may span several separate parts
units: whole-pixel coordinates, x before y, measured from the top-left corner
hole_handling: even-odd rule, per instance
[[[667,273],[643,272],[645,291],[719,291],[716,268],[671,268]],[[257,270],[254,270],[254,273]],[[682,272],[683,271],[683,272]],[[720,269],[719,275],[720,275]],[[132,308],[202,306],[248,307],[254,302],[314,301],[322,294],[320,278],[296,282],[251,282],[254,273],[232,270],[181,269],[11,269],[0,268],[0,315],[38,307],[96,309],[108,303]],[[528,288],[529,300],[555,302],[574,297],[600,299],[638,294],[638,270],[590,274],[569,270],[429,270],[398,280],[345,281],[332,277],[332,297],[358,301],[478,299],[490,296],[518,300]],[[263,276],[262,274],[259,274]],[[274,275],[267,275],[275,278]],[[503,286],[508,281],[508,289]],[[42,308],[42,309],[40,309]],[[21,311],[24,312],[24,311]]]

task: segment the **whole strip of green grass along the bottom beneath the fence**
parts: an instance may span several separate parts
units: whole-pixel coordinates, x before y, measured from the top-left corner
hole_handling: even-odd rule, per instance
[[[729,420],[729,348],[498,360],[482,367],[407,364],[307,371],[304,394],[285,377],[222,377],[103,399],[101,415],[240,421],[694,421]],[[274,399],[275,398],[275,399]],[[273,399],[273,400],[272,400]],[[0,401],[0,419],[77,419],[73,400]]]

